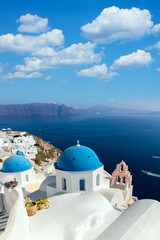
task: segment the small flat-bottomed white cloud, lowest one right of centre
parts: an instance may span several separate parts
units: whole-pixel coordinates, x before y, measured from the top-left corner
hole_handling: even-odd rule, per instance
[[[114,76],[118,76],[118,73],[110,71],[106,64],[95,65],[91,68],[82,69],[77,72],[79,77],[95,77],[97,79],[103,79],[105,81],[110,81]]]

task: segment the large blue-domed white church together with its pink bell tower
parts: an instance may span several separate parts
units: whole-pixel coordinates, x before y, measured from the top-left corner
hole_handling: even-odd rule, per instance
[[[127,165],[122,161],[112,176],[104,170],[96,153],[80,145],[79,141],[61,153],[55,169],[56,175],[47,177],[41,184],[40,194],[44,191],[47,197],[51,197],[55,194],[96,191],[116,207],[132,199],[133,186],[127,178],[124,182],[124,176],[130,174]],[[119,179],[121,175],[124,176]]]

